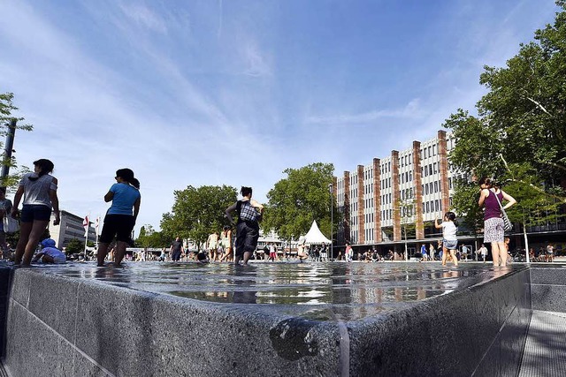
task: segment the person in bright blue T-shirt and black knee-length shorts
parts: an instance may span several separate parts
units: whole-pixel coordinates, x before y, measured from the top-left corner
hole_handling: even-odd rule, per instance
[[[105,202],[112,202],[111,207],[104,216],[103,232],[98,244],[98,267],[104,266],[104,259],[108,253],[108,246],[116,237],[116,252],[114,253],[114,266],[122,263],[126,254],[126,246],[131,242],[132,230],[135,220],[140,212],[140,181],[134,177],[134,171],[129,169],[116,170],[116,183],[104,195]]]

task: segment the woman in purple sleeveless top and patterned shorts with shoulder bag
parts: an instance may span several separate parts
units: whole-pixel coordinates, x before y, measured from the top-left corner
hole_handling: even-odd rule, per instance
[[[505,266],[507,264],[507,253],[505,252],[505,230],[503,219],[501,219],[501,207],[503,200],[508,203],[503,207],[507,209],[516,203],[516,200],[499,185],[494,184],[490,178],[483,177],[479,180],[481,193],[478,200],[479,207],[486,207],[484,212],[484,243],[492,244],[493,266]],[[496,198],[497,197],[497,198]],[[501,259],[501,261],[500,261]]]

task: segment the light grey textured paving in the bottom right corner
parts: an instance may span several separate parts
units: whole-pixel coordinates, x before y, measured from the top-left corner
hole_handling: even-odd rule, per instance
[[[566,376],[566,313],[532,311],[519,377]]]

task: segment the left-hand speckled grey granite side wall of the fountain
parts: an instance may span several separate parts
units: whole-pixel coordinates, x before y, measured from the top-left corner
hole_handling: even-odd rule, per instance
[[[34,376],[337,375],[338,328],[17,269],[4,366]]]

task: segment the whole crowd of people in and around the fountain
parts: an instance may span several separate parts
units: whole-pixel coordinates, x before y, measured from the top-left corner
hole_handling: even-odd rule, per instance
[[[19,218],[19,241],[13,255],[15,264],[29,265],[32,260],[46,263],[64,261],[61,255],[65,254],[55,247],[55,241],[40,239],[50,222],[52,213],[55,217],[53,224],[57,225],[60,222],[57,178],[50,175],[53,169],[54,165],[50,160],[35,161],[34,171],[25,174],[20,179],[13,204],[11,200],[5,198],[5,188],[0,188],[0,217]],[[126,246],[132,243],[130,235],[140,211],[140,182],[134,177],[134,171],[119,169],[116,171],[115,179],[116,183],[111,185],[110,190],[103,197],[104,201],[111,202],[111,207],[104,217],[103,230],[96,253],[99,267],[106,266],[107,259],[111,260],[115,266],[120,265],[126,255]],[[513,206],[516,200],[509,193],[501,190],[501,185],[490,178],[481,178],[479,186],[478,206],[484,207],[484,244],[476,250],[476,260],[486,262],[488,256],[486,244],[489,244],[493,265],[506,266],[513,258],[509,253],[509,238],[505,238],[502,214]],[[296,258],[300,261],[326,260],[329,257],[332,259],[332,255],[328,255],[326,245],[310,247],[304,238],[299,239],[295,254],[284,253],[283,256],[280,256],[277,253],[277,246],[273,243],[265,245],[263,250],[258,250],[259,222],[264,214],[264,206],[252,199],[251,187],[242,186],[241,197],[241,200],[237,200],[232,206],[226,208],[226,219],[230,225],[224,226],[219,232],[212,232],[203,250],[189,252],[184,249],[182,240],[176,238],[169,250],[164,248],[158,257],[154,256],[151,259],[196,260],[199,262],[233,261],[236,264],[240,262],[247,264],[250,259],[271,261],[288,260],[289,258]],[[22,203],[21,210],[19,210],[20,202]],[[502,204],[503,202],[505,205]],[[237,215],[235,222],[234,215]],[[437,245],[432,243],[428,247],[421,245],[420,260],[440,259],[443,266],[446,266],[447,262],[458,266],[458,260],[467,260],[471,255],[471,250],[466,245],[458,248],[456,237],[458,222],[455,213],[448,211],[441,222],[436,219],[434,226],[442,230],[442,240],[439,240]],[[10,250],[6,245],[5,236],[4,222],[0,222],[0,256],[4,257]],[[36,253],[40,242],[42,251]],[[529,256],[532,261],[552,262],[555,258],[555,248],[551,244],[547,245],[546,249],[541,246],[538,251],[531,248]],[[348,242],[344,254],[340,251],[337,256],[337,260],[348,262],[404,259],[404,253],[388,250],[386,254],[380,254],[375,246],[355,255],[352,245]],[[147,260],[145,253],[139,256],[138,260]]]

